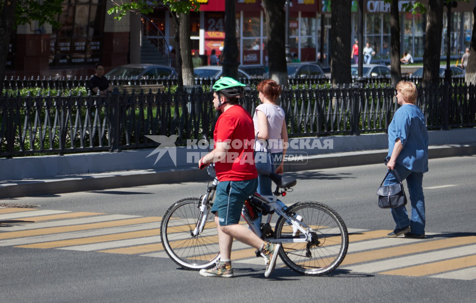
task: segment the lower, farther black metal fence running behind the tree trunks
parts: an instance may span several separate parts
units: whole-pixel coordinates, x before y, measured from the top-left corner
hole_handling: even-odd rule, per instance
[[[252,76],[250,79],[247,78],[241,78],[238,79],[241,83],[244,83],[246,85],[250,85],[251,87],[256,87],[258,83],[265,79],[264,76]],[[422,81],[421,78],[419,77],[409,77],[405,76],[403,77],[404,80],[409,80],[412,82],[415,82],[415,84],[419,85]],[[197,78],[195,79],[195,85],[213,85],[215,83],[215,79],[211,78]],[[299,77],[299,78],[290,78],[289,80],[290,85],[323,85],[323,84],[329,84],[330,80],[327,78],[320,78],[317,76],[308,76],[308,77]],[[177,78],[170,78],[170,77],[159,77],[157,79],[116,79],[112,78],[109,79],[109,82],[112,86],[124,86],[124,85],[163,85],[163,86],[173,86],[177,85]],[[444,83],[444,78],[440,78],[440,84],[443,85]],[[368,86],[389,86],[390,85],[390,79],[386,77],[371,77],[366,79],[366,83]],[[453,77],[452,78],[452,83],[455,85],[463,85],[465,83],[465,77]],[[11,77],[10,79],[7,79],[5,77],[4,80],[4,87],[6,89],[12,89],[12,90],[18,90],[18,89],[23,89],[23,88],[34,88],[34,87],[39,87],[39,88],[50,88],[50,89],[60,89],[60,90],[68,90],[72,89],[75,87],[89,87],[89,80],[88,79],[83,79],[80,77],[79,79],[74,77],[71,79],[67,79],[65,77],[62,78],[46,78],[43,77],[40,79],[40,77],[37,77],[36,79],[34,77],[31,78],[26,78],[24,77],[23,79],[20,79],[20,77],[17,77],[16,79]]]

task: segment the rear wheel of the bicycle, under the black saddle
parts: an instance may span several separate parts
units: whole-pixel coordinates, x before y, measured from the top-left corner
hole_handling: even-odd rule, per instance
[[[317,214],[310,215],[310,211]],[[335,270],[344,260],[349,245],[347,227],[335,210],[314,201],[299,202],[286,210],[288,216],[299,215],[311,227],[319,242],[283,243],[279,251],[281,260],[301,275],[320,276]],[[295,237],[286,218],[278,218],[275,238]],[[327,243],[326,243],[327,242]],[[311,256],[306,256],[307,249]]]

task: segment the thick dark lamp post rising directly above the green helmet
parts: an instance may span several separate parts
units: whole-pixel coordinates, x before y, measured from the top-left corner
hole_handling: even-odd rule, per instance
[[[235,0],[225,2],[225,41],[223,46],[223,76],[238,79],[238,43],[236,36]]]

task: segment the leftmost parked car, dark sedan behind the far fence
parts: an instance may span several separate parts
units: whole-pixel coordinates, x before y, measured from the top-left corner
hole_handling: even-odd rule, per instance
[[[107,73],[106,78],[130,78],[132,79],[149,79],[158,77],[176,77],[177,72],[175,68],[170,66],[155,65],[155,64],[127,64],[119,66]]]

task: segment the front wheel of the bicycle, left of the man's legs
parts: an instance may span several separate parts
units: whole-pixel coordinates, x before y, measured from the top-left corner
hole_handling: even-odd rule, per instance
[[[220,257],[215,216],[208,213],[207,223],[198,236],[192,236],[200,213],[199,198],[185,198],[172,204],[160,224],[160,240],[167,255],[187,270],[215,265]]]

